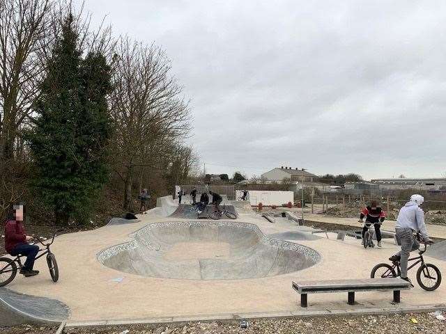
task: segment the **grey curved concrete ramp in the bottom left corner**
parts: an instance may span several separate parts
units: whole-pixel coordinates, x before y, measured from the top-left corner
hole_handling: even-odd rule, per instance
[[[18,294],[0,288],[0,327],[20,324],[58,324],[70,316],[68,306],[55,299]]]

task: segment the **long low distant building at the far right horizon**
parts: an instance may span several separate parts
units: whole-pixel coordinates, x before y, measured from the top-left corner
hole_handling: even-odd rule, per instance
[[[383,190],[446,190],[446,177],[374,179],[371,183]]]

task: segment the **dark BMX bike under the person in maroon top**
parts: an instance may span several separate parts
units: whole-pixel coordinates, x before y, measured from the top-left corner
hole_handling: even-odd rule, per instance
[[[42,244],[44,247],[43,249],[39,250],[40,254],[36,256],[36,260],[47,255],[49,275],[51,275],[53,282],[57,282],[59,280],[59,267],[57,267],[56,257],[49,249],[49,246],[53,244],[54,237],[56,237],[56,233],[59,232],[62,232],[62,230],[57,230],[54,232],[51,241],[47,243],[43,242],[43,238],[34,238],[34,240],[40,242],[40,244]],[[24,257],[24,255],[17,255],[14,259],[9,257],[0,257],[0,287],[8,285],[14,280],[15,276],[17,276],[17,271],[20,271],[20,269],[23,267],[21,260],[22,257]]]

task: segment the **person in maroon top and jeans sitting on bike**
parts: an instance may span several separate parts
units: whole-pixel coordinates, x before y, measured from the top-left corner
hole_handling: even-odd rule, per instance
[[[13,210],[10,212],[5,225],[5,249],[10,255],[26,256],[26,261],[22,269],[20,269],[20,273],[25,277],[29,277],[36,276],[39,273],[39,271],[33,270],[39,246],[28,244],[28,241],[31,241],[33,238],[25,234],[23,226],[24,212],[24,204],[13,206]]]

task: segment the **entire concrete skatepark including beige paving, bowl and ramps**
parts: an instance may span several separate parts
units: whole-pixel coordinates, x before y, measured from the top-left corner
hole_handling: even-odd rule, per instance
[[[344,294],[315,294],[303,310],[292,281],[368,278],[398,246],[385,239],[383,248],[365,250],[357,239],[312,234],[288,218],[270,223],[242,202],[228,204],[236,220],[209,221],[171,216],[178,203],[160,198],[138,220],[116,218],[97,230],[56,237],[59,282],[36,262],[39,276],[17,277],[0,289],[0,321],[75,326],[446,308],[445,283],[435,292],[415,283],[401,292],[399,305],[385,292],[357,294],[355,305]],[[432,250],[426,262],[446,273],[443,246]],[[414,275],[409,272],[413,282]]]

